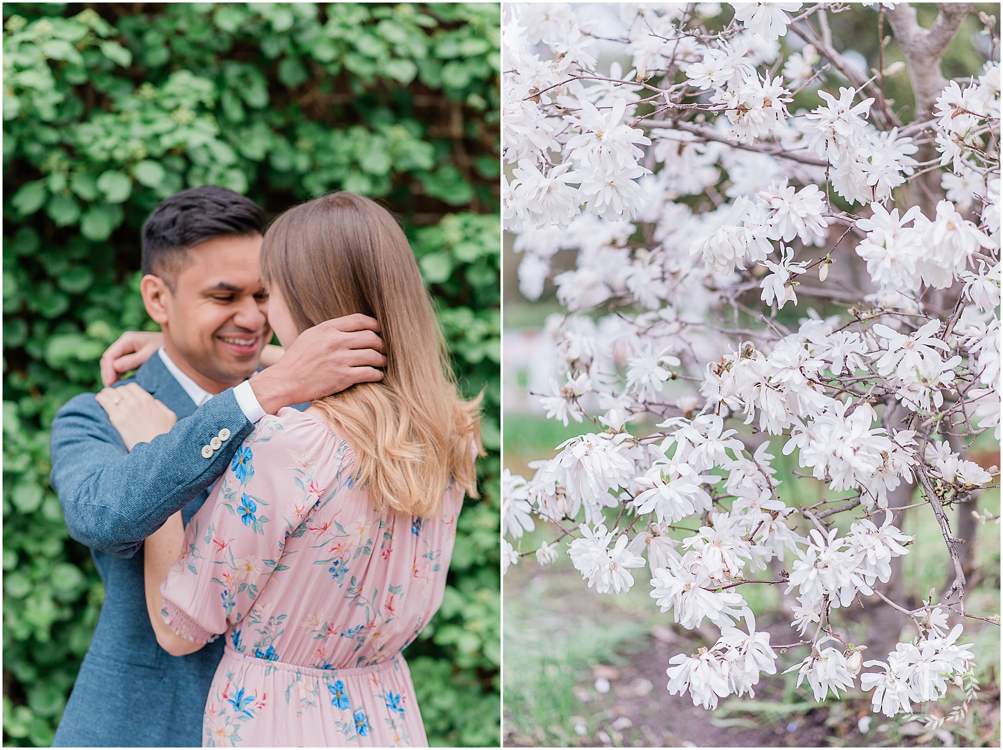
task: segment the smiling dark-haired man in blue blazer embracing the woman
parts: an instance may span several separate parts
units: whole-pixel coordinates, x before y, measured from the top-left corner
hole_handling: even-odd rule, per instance
[[[222,188],[161,203],[142,229],[140,290],[163,346],[120,386],[126,390],[79,395],[52,423],[52,486],[105,587],[54,746],[202,745],[223,642],[184,657],[157,646],[144,598],[143,539],[179,510],[189,521],[266,413],[382,378],[378,326],[361,315],[305,331],[251,378],[272,336],[258,277],[264,227],[258,206]],[[98,401],[125,395],[162,402],[177,423],[152,439],[159,430],[137,438],[119,425],[120,435]]]

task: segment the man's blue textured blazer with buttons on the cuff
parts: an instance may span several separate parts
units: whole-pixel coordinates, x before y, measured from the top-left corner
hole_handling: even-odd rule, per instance
[[[53,747],[201,747],[206,697],[223,656],[222,639],[184,657],[157,645],[142,540],[178,510],[189,522],[254,425],[233,390],[197,410],[158,356],[133,380],[178,415],[171,432],[127,452],[92,393],[71,399],[52,422],[52,486],[105,590]],[[230,438],[204,458],[203,446],[224,427]]]

